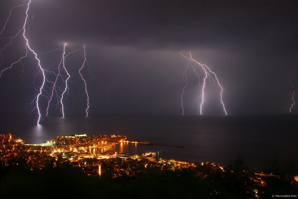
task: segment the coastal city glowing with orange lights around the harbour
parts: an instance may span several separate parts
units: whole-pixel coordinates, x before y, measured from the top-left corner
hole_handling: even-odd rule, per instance
[[[110,176],[121,178],[133,177],[141,172],[181,171],[191,170],[196,177],[210,179],[220,176],[225,178],[228,173],[237,173],[244,179],[246,194],[251,198],[258,198],[267,186],[267,180],[280,179],[272,173],[254,173],[249,170],[231,170],[209,162],[185,162],[173,159],[155,158],[157,152],[144,154],[118,153],[105,151],[103,153],[89,153],[89,149],[106,149],[116,144],[130,142],[123,135],[87,136],[68,135],[58,136],[47,143],[30,144],[11,134],[0,135],[0,161],[3,165],[22,164],[27,170],[42,170],[47,167],[77,167],[88,176]],[[134,144],[150,144],[148,142],[131,142]],[[238,165],[239,166],[239,165]],[[235,168],[235,167],[234,167]],[[285,178],[292,187],[298,186],[298,176]]]

